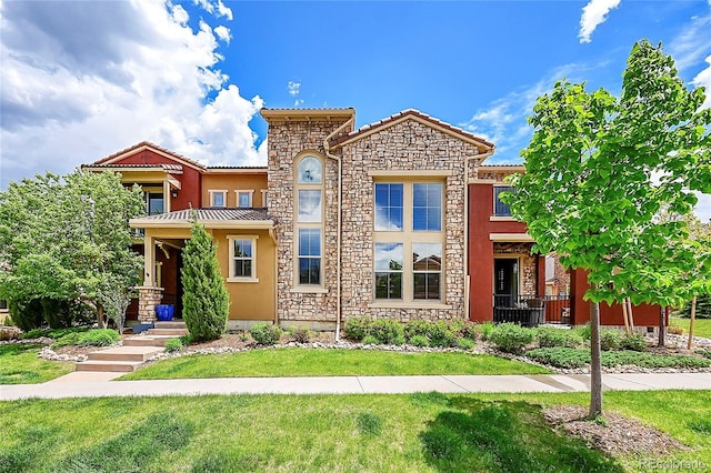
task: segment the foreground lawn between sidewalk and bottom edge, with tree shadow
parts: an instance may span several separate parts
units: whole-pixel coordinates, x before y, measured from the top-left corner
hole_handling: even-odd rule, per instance
[[[671,456],[611,457],[542,421],[541,405],[587,402],[584,393],[0,402],[0,471],[622,472],[651,459],[711,465],[711,391],[605,393],[609,411],[690,446]]]

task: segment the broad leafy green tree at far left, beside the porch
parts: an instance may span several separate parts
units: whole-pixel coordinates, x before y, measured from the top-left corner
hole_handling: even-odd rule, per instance
[[[141,191],[111,172],[11,183],[0,193],[0,298],[16,312],[39,301],[56,326],[71,323],[78,303],[90,304],[100,325],[104,309],[122,322],[116,300],[128,298],[142,268],[128,220],[143,212]]]

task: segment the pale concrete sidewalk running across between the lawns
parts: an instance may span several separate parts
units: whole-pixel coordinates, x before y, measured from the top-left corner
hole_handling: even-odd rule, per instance
[[[120,374],[120,373],[119,373]],[[202,394],[403,394],[590,391],[587,374],[218,378],[203,380],[110,381],[70,373],[43,384],[0,385],[0,401],[103,396]],[[603,374],[607,391],[711,390],[711,373]]]

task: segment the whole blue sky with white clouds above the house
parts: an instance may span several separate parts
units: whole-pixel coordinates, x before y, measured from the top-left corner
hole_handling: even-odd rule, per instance
[[[142,140],[264,163],[262,107],[353,107],[358,125],[414,108],[518,162],[535,98],[563,77],[619,92],[641,38],[711,85],[709,0],[4,0],[0,16],[0,188]]]

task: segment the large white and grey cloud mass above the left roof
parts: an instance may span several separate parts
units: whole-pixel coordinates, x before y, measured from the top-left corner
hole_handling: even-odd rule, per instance
[[[0,9],[0,188],[142,140],[206,163],[266,163],[248,124],[262,100],[219,70],[220,27],[192,31],[186,10],[161,0]]]

